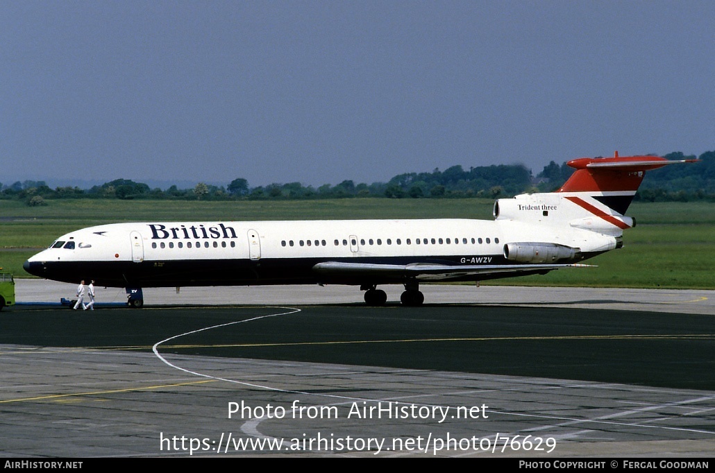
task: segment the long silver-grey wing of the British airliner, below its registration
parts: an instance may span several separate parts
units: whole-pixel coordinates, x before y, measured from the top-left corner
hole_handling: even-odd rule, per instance
[[[313,266],[313,270],[332,277],[389,277],[410,278],[420,281],[448,281],[464,277],[489,276],[492,274],[548,272],[567,267],[589,267],[588,264],[490,264],[490,265],[449,265],[449,264],[370,264],[348,262],[323,262]]]

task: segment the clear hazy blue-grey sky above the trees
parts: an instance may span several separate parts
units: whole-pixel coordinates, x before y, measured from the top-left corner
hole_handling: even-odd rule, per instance
[[[715,2],[0,0],[0,182],[715,149]]]

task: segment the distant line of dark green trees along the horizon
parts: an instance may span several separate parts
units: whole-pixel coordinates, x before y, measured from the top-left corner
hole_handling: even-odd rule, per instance
[[[694,159],[683,153],[667,154],[667,159]],[[665,166],[648,177],[636,195],[641,201],[715,201],[715,151],[698,156],[701,163],[689,166]],[[30,206],[46,205],[51,199],[181,199],[181,200],[270,200],[270,199],[345,199],[383,197],[392,199],[429,199],[513,196],[526,192],[558,189],[573,173],[566,163],[551,161],[533,176],[519,164],[500,164],[463,169],[452,166],[444,171],[398,174],[388,182],[355,184],[342,181],[331,186],[304,186],[300,182],[250,187],[237,178],[227,186],[199,182],[191,189],[151,189],[147,184],[129,179],[115,179],[91,189],[56,187],[44,181],[17,181],[0,184],[0,199],[26,201]]]

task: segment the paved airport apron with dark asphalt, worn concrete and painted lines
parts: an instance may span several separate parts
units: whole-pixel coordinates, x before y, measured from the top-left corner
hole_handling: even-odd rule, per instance
[[[145,289],[137,310],[97,289],[71,311],[71,285],[19,281],[0,455],[715,451],[715,292],[424,286],[406,308],[399,290],[371,308],[354,288]]]

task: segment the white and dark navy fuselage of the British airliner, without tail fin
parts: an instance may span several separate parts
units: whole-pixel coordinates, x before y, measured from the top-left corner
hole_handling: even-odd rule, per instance
[[[384,284],[394,274],[316,272],[318,263],[513,265],[512,242],[546,242],[590,255],[613,237],[570,226],[471,219],[157,222],[93,226],[63,235],[26,262],[48,279],[113,287],[240,284]],[[553,269],[553,268],[552,268]],[[478,280],[507,277],[445,276]]]

